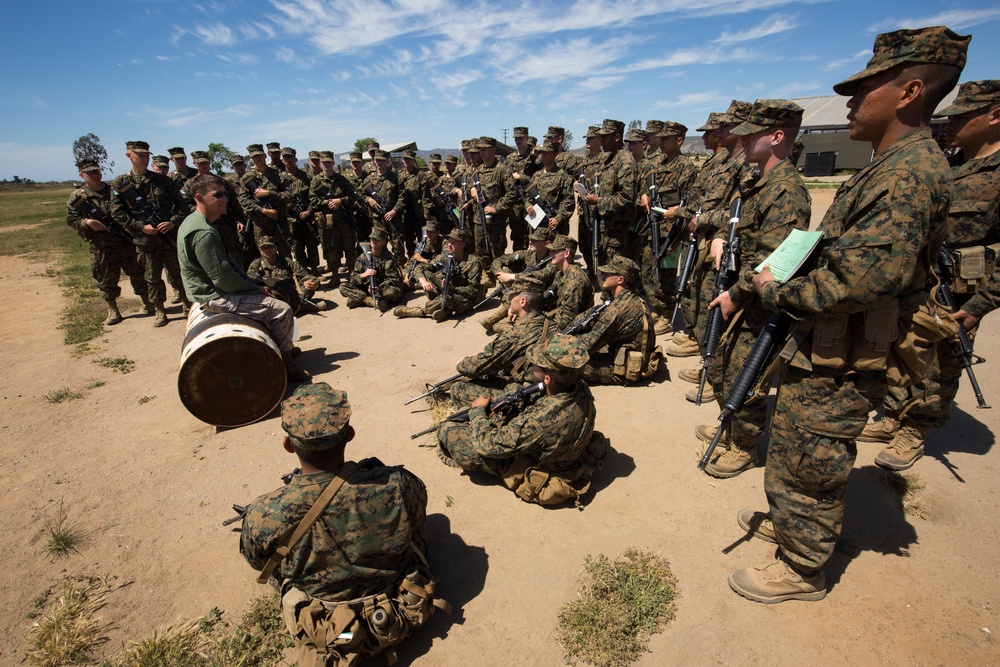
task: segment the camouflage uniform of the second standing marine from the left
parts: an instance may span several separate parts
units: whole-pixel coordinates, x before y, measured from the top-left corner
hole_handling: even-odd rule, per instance
[[[141,176],[130,171],[115,178],[111,182],[111,189],[114,193],[120,193],[121,189],[128,185],[133,185],[150,206],[159,208],[164,215],[169,216],[175,230],[180,227],[187,215],[188,205],[174,181],[154,171],[147,171]],[[186,301],[175,243],[164,239],[162,234],[146,234],[142,230],[146,221],[137,217],[131,210],[125,195],[114,194],[112,197],[111,217],[128,230],[142,254],[141,263],[150,303],[162,309],[167,299],[167,287],[162,277],[164,269],[167,271],[171,286]],[[175,230],[169,232],[171,239],[176,238]]]

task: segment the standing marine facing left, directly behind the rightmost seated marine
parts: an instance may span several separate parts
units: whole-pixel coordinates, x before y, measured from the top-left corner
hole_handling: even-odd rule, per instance
[[[597,185],[587,188],[587,203],[597,208],[601,225],[601,253],[610,261],[624,255],[638,258],[638,246],[632,233],[635,222],[635,198],[638,172],[635,160],[622,150],[625,123],[605,118],[598,134],[605,153],[604,162],[595,176]]]

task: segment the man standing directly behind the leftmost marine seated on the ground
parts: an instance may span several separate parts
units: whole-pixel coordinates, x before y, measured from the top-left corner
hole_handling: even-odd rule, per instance
[[[282,176],[284,172],[267,164],[267,155],[260,144],[247,146],[247,152],[254,168],[240,179],[238,190],[240,206],[243,207],[247,219],[253,222],[254,244],[259,246],[262,236],[270,236],[278,243],[278,252],[285,257],[291,257],[292,247],[285,229],[285,221],[288,218],[288,204],[292,196],[285,188]],[[250,191],[251,183],[257,186],[254,191]],[[258,197],[258,193],[263,191],[266,191],[266,194]]]

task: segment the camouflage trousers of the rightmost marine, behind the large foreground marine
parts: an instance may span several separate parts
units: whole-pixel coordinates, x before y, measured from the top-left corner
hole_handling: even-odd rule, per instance
[[[976,339],[976,329],[969,331],[969,338]],[[890,387],[885,397],[885,413],[909,426],[920,429],[941,428],[948,421],[948,413],[958,394],[962,379],[961,361],[955,356],[948,340],[937,344],[937,355],[927,367],[919,384],[906,389]]]

